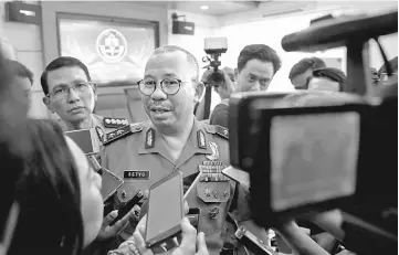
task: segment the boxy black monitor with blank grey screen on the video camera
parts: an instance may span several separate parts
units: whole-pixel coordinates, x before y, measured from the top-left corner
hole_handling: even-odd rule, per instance
[[[303,104],[321,98],[333,104]],[[250,173],[258,224],[271,227],[354,198],[371,106],[357,96],[308,92],[233,94],[229,104],[231,164]]]

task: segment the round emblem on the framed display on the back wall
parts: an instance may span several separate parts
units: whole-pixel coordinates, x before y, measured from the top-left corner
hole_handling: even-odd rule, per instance
[[[106,29],[97,36],[96,49],[105,62],[119,62],[127,53],[125,36],[115,29]]]

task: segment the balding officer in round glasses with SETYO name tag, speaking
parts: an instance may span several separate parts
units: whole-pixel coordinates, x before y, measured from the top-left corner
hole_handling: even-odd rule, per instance
[[[150,121],[107,134],[102,158],[103,167],[124,178],[114,198],[115,208],[172,171],[183,173],[186,187],[201,172],[200,182],[187,202],[190,208],[201,209],[199,231],[204,232],[210,254],[219,254],[223,243],[233,242],[234,230],[227,227],[227,213],[234,212],[238,215],[234,220],[244,225],[251,221],[249,213],[234,206],[239,203],[245,208],[244,193],[221,173],[229,164],[228,129],[195,118],[193,107],[204,89],[198,82],[198,72],[195,56],[186,50],[157,49],[138,83]],[[239,202],[233,204],[234,196]],[[266,238],[263,229],[249,225],[259,237]],[[132,233],[129,229],[122,237],[126,240]]]

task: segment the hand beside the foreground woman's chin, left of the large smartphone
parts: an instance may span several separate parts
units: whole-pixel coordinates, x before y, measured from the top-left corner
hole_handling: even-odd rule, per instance
[[[106,215],[103,220],[103,225],[99,230],[96,241],[101,242],[115,237],[125,230],[125,227],[129,224],[129,221],[138,221],[138,216],[136,215],[135,211],[137,211],[137,208],[133,208],[130,212],[128,212],[123,219],[117,221],[112,226],[109,226],[109,224],[118,215],[118,212],[115,210],[108,213],[108,215]]]

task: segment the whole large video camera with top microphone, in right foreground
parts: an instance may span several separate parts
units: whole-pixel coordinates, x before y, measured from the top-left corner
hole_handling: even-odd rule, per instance
[[[335,19],[283,39],[286,51],[346,45],[347,93],[230,97],[231,166],[249,173],[256,224],[269,229],[340,209],[351,216],[344,219],[344,246],[359,255],[376,254],[377,247],[397,254],[398,98],[369,100],[365,57],[368,40],[396,33],[397,22],[398,12]]]

